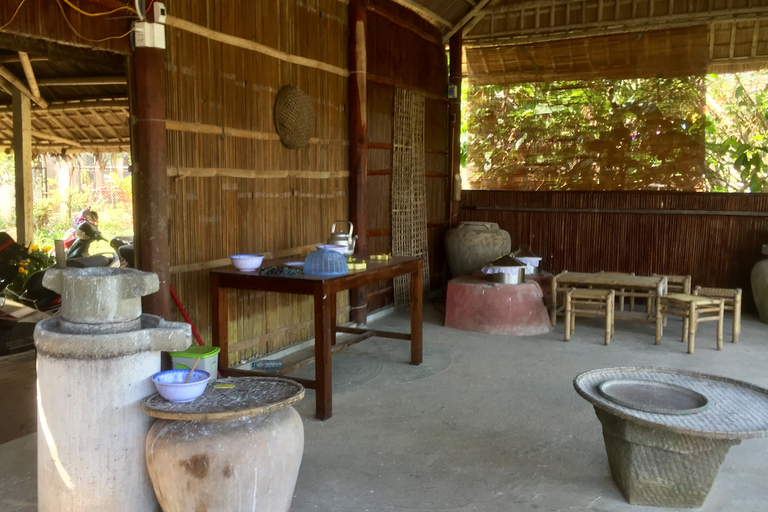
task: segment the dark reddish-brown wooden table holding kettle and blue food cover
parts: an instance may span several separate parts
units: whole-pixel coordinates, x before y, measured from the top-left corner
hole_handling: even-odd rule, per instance
[[[359,258],[359,257],[358,257]],[[267,261],[262,268],[280,265],[285,260]],[[229,364],[229,312],[227,306],[227,289],[254,290],[275,293],[297,293],[312,295],[315,303],[315,380],[295,378],[283,375],[284,369],[278,373],[291,378],[309,389],[314,389],[315,415],[318,419],[326,420],[333,414],[332,409],[332,379],[331,354],[338,352],[354,343],[373,336],[410,340],[411,364],[419,365],[422,361],[422,263],[418,257],[395,257],[387,261],[369,261],[366,270],[350,271],[348,275],[338,277],[322,277],[306,274],[300,275],[259,275],[259,272],[241,272],[234,267],[213,270],[210,274],[211,283],[211,320],[213,346],[219,347],[219,371],[223,376],[275,375],[263,372],[238,370],[228,368]],[[392,279],[397,276],[411,276],[411,332],[397,333],[388,331],[371,331],[352,327],[336,326],[336,293],[359,286],[365,286],[376,281]],[[336,333],[352,333],[358,336],[345,343],[336,344]]]

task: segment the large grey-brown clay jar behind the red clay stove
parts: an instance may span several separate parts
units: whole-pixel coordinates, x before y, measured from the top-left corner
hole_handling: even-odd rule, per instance
[[[445,252],[451,275],[465,276],[512,252],[512,240],[495,222],[462,222],[446,233]]]

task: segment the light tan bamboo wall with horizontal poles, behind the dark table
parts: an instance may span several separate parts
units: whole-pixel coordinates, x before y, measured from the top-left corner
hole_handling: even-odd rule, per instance
[[[166,31],[172,285],[210,343],[211,268],[236,253],[302,257],[348,218],[347,6],[166,5],[174,18]],[[298,150],[274,128],[286,85],[306,92],[315,111],[312,139]],[[314,333],[308,296],[233,291],[229,310],[230,364]],[[339,320],[347,316],[340,294]]]

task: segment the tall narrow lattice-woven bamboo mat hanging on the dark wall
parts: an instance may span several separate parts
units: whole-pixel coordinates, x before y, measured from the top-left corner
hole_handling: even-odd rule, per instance
[[[427,193],[424,179],[424,96],[397,89],[392,152],[392,255],[420,256],[429,292]],[[410,306],[410,276],[394,279],[395,307]]]

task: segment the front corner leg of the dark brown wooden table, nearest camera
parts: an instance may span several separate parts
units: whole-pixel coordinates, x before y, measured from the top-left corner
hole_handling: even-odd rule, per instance
[[[328,293],[322,285],[315,290],[315,417],[319,420],[333,415],[330,301],[335,299],[336,294]]]

